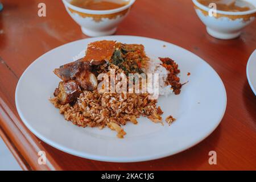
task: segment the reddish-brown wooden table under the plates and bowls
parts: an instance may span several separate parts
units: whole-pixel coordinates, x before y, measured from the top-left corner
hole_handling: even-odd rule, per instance
[[[65,154],[40,141],[15,108],[16,84],[28,65],[43,53],[86,36],[60,0],[1,1],[0,135],[23,169],[256,169],[256,97],[246,79],[246,63],[256,48],[256,22],[238,39],[217,40],[207,34],[191,1],[138,0],[116,34],[162,39],[199,55],[224,81],[228,106],[220,126],[187,151],[151,162],[107,163]],[[46,3],[47,17],[38,16],[40,2]],[[217,152],[217,165],[208,163],[212,150]],[[38,164],[38,151],[46,151],[46,165]]]

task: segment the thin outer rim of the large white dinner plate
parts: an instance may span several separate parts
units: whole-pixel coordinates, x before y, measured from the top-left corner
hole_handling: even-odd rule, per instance
[[[195,55],[198,59],[200,59],[201,61],[203,61],[205,64],[208,65],[208,67],[210,67],[210,69],[212,69],[212,71],[216,74],[218,80],[220,80],[220,83],[221,83],[221,88],[223,89],[223,93],[224,93],[224,110],[222,110],[222,113],[220,114],[220,118],[218,119],[218,122],[216,122],[216,125],[212,128],[212,130],[209,131],[209,133],[207,135],[205,135],[205,137],[202,137],[200,140],[198,140],[197,142],[195,143],[192,143],[190,144],[189,146],[186,146],[186,147],[183,147],[183,148],[180,148],[179,150],[176,150],[175,152],[164,152],[164,154],[156,154],[156,155],[151,155],[151,156],[146,156],[146,157],[136,157],[136,156],[133,156],[133,157],[110,157],[110,156],[102,156],[102,155],[91,155],[91,154],[88,154],[86,153],[86,157],[85,155],[82,155],[81,152],[79,151],[74,151],[72,148],[68,148],[68,147],[64,147],[64,146],[61,146],[60,144],[58,143],[55,143],[53,142],[52,140],[48,140],[47,138],[45,138],[44,136],[42,136],[41,134],[39,134],[36,130],[34,130],[30,124],[26,121],[26,119],[23,117],[23,114],[22,114],[22,111],[20,111],[19,109],[19,104],[18,104],[18,101],[17,101],[17,94],[18,94],[18,90],[19,90],[19,85],[20,85],[20,82],[23,78],[24,75],[26,75],[26,72],[28,71],[28,69],[36,63],[36,61],[38,61],[40,58],[42,58],[44,55],[48,54],[48,53],[51,53],[53,51],[55,51],[55,49],[57,48],[60,48],[62,46],[65,46],[67,44],[72,44],[72,43],[76,43],[76,42],[80,42],[82,40],[88,40],[88,39],[96,39],[96,38],[85,38],[85,39],[79,39],[79,40],[75,40],[73,42],[69,42],[69,43],[66,43],[66,44],[63,44],[61,46],[58,46],[56,48],[53,48],[51,49],[50,51],[46,52],[46,53],[43,53],[43,55],[39,56],[37,59],[35,59],[26,69],[25,71],[22,73],[22,76],[20,76],[19,78],[19,81],[18,81],[18,84],[16,85],[16,89],[15,89],[15,106],[16,106],[16,110],[18,111],[18,114],[19,114],[19,117],[20,119],[22,120],[22,122],[24,123],[24,125],[34,134],[36,135],[36,137],[38,137],[40,140],[42,140],[43,142],[49,144],[50,146],[54,147],[54,148],[57,148],[58,150],[61,150],[61,151],[64,151],[68,154],[71,154],[71,155],[75,155],[75,156],[79,156],[81,158],[86,158],[86,159],[91,159],[91,160],[97,160],[97,161],[101,161],[101,162],[119,162],[119,163],[130,163],[130,162],[144,162],[144,161],[149,161],[149,160],[156,160],[156,159],[161,159],[161,158],[166,158],[168,156],[171,156],[171,155],[175,155],[175,154],[178,154],[180,152],[183,152],[185,150],[188,150],[189,148],[193,147],[193,146],[196,146],[197,144],[199,144],[200,142],[202,142],[205,138],[209,137],[210,134],[213,133],[214,130],[216,130],[216,128],[220,125],[220,122],[222,121],[222,118],[224,117],[225,115],[225,111],[226,111],[226,106],[227,106],[227,95],[226,95],[226,89],[225,89],[225,85],[224,85],[224,82],[222,81],[221,77],[218,75],[218,73],[209,65],[209,63],[207,61],[205,61],[204,59],[201,59],[201,57],[197,56],[195,53],[183,48],[183,47],[180,47],[180,46],[177,46],[176,44],[173,44],[173,43],[170,43],[170,42],[166,42],[164,40],[160,40],[160,39],[154,39],[154,38],[148,38],[148,37],[143,37],[143,36],[132,36],[132,35],[112,35],[112,36],[100,36],[98,37],[97,39],[108,39],[108,38],[113,38],[113,37],[133,37],[133,38],[146,38],[146,39],[151,39],[151,40],[154,40],[154,41],[161,41],[163,43],[168,43],[168,44],[172,44],[172,46],[175,46],[175,47],[178,47],[180,49],[183,49],[183,51],[187,51],[187,52],[190,52],[192,53],[193,55]]]

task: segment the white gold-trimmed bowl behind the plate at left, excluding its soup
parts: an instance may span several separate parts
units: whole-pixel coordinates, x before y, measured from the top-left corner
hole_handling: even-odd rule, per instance
[[[124,0],[126,6],[113,10],[88,10],[71,5],[71,0],[62,0],[68,14],[81,26],[82,32],[88,36],[112,35],[117,26],[129,14],[135,0]]]

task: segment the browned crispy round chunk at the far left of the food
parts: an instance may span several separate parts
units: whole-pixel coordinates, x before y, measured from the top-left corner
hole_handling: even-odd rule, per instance
[[[55,89],[54,96],[60,105],[74,103],[81,93],[79,84],[75,80],[61,81]]]

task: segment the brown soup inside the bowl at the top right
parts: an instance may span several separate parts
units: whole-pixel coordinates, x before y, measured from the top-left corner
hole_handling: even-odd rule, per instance
[[[232,12],[240,12],[240,11],[249,11],[255,9],[255,6],[251,5],[251,3],[243,1],[243,0],[197,0],[204,6],[209,6],[210,3],[216,3],[217,10],[221,11],[232,11]]]

